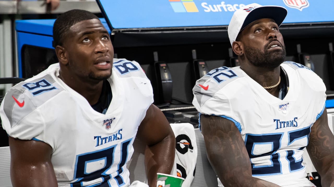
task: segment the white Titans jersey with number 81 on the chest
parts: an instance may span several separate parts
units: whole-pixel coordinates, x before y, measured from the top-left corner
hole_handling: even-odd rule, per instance
[[[58,186],[129,186],[138,126],[153,102],[150,81],[137,62],[114,59],[106,114],[58,78],[59,64],[11,88],[0,106],[9,136],[49,144]]]

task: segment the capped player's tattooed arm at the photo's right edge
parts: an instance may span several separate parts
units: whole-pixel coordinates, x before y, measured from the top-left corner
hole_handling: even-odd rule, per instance
[[[334,135],[328,126],[326,108],[313,124],[309,145],[306,148],[321,176],[321,185],[334,187]]]

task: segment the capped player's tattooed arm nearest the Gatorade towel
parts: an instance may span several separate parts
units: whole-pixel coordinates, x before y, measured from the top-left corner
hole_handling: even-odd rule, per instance
[[[225,187],[279,187],[252,177],[244,141],[232,121],[212,115],[201,115],[200,120],[209,162]]]

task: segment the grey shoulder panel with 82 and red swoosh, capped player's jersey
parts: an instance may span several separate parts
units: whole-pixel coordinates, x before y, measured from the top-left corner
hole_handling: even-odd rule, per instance
[[[237,82],[240,78],[244,77],[243,71],[240,67],[220,67],[211,70],[205,76],[196,81],[193,88],[193,93],[214,95],[221,89],[226,88],[228,85],[237,87]]]

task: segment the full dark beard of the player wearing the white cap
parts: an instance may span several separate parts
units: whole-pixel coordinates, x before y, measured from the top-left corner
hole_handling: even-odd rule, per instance
[[[258,48],[245,46],[245,54],[247,54],[249,62],[256,67],[262,68],[276,68],[280,66],[287,55],[285,46],[281,45],[283,46],[282,50],[269,51],[268,46],[271,42],[273,41],[270,41],[265,45],[264,51],[261,51]]]

